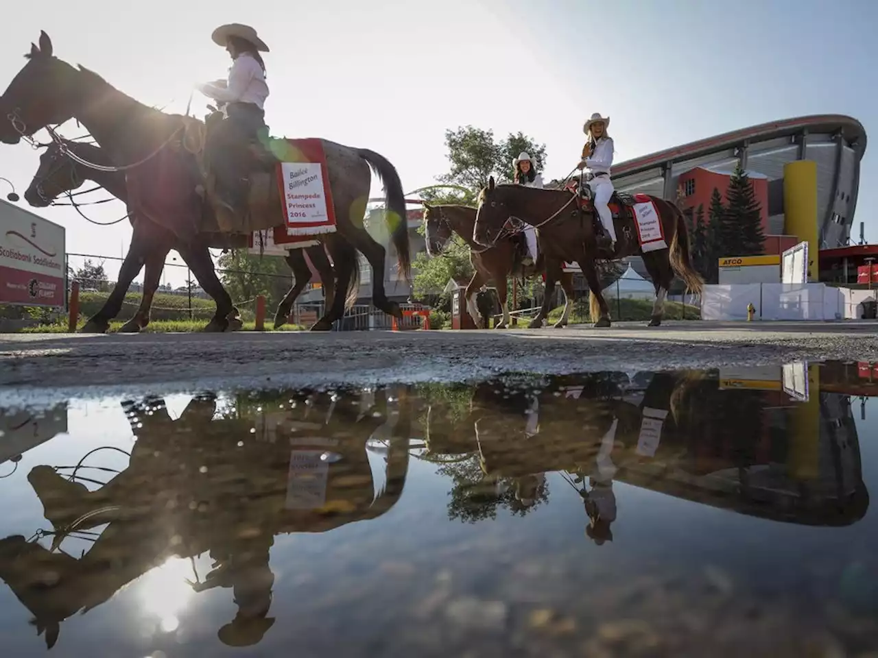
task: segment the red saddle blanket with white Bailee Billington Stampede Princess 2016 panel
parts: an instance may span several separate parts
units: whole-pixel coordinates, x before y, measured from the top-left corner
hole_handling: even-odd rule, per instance
[[[283,198],[288,236],[335,232],[335,209],[329,171],[320,139],[277,140],[277,183]],[[279,236],[278,236],[279,237]],[[287,240],[277,240],[286,244]]]

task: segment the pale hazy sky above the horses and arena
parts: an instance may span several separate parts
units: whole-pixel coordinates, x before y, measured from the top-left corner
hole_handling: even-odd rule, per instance
[[[444,133],[460,125],[544,143],[545,180],[577,164],[582,124],[595,111],[611,118],[616,162],[808,114],[850,115],[867,134],[878,126],[874,0],[43,0],[40,11],[4,15],[0,89],[45,30],[62,60],[182,113],[196,82],[226,75],[228,56],[210,37],[230,22],[253,25],[271,48],[272,134],[378,151],[406,191],[447,170]],[[206,103],[196,92],[193,113],[204,116]],[[83,132],[61,127],[67,137]],[[878,240],[874,149],[854,219],[866,222],[867,240]],[[21,194],[38,159],[25,143],[0,145],[0,176]],[[372,196],[380,191],[373,182]],[[70,253],[127,250],[127,221],[102,227],[65,206],[30,210],[67,229]],[[101,222],[125,214],[115,201],[83,211]],[[118,262],[104,266],[114,278]],[[163,282],[185,278],[185,269],[165,268]]]

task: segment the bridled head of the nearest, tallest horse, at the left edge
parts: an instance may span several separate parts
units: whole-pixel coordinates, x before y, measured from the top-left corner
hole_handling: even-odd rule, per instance
[[[0,141],[18,144],[47,125],[73,116],[81,94],[78,71],[53,54],[52,39],[40,32],[40,45],[31,44],[27,63],[18,71],[0,101]]]

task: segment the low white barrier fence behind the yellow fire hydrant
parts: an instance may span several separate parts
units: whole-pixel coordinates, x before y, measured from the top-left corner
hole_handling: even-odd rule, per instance
[[[840,320],[863,317],[863,302],[878,290],[833,288],[825,283],[733,283],[706,285],[702,320]]]

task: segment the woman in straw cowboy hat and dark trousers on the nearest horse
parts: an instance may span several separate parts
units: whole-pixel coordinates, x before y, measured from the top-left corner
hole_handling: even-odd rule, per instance
[[[264,105],[269,88],[265,82],[265,62],[259,53],[269,52],[269,46],[255,29],[239,23],[220,25],[213,31],[212,39],[226,48],[232,57],[232,67],[228,69],[227,80],[196,86],[202,94],[222,104],[226,117],[212,132],[205,156],[219,182],[217,194],[238,214],[248,195],[249,172],[241,169],[248,143],[265,139],[268,134]]]

